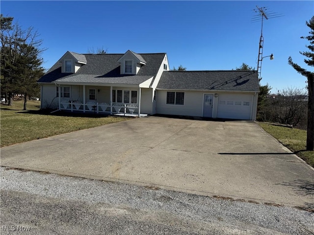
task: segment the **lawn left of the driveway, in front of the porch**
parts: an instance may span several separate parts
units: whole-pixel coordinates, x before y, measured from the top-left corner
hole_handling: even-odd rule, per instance
[[[50,114],[40,109],[40,101],[13,101],[12,106],[0,105],[0,146],[37,140],[53,135],[124,121],[128,117],[102,117],[81,114]]]

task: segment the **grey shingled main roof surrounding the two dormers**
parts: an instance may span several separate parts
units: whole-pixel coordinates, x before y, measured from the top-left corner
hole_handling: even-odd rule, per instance
[[[120,63],[118,60],[123,54],[81,55],[85,57],[86,64],[82,65],[76,73],[62,73],[61,63],[57,62],[38,82],[140,84],[156,76],[165,53],[138,54],[147,64],[136,75],[120,74]],[[81,57],[78,58],[81,59]]]

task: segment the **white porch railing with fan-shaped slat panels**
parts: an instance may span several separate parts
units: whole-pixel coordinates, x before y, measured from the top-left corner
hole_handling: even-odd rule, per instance
[[[112,107],[112,109],[111,109]],[[80,112],[94,112],[94,113],[116,113],[116,114],[133,114],[135,110],[138,110],[138,106],[135,104],[120,104],[113,103],[109,105],[108,103],[98,103],[98,102],[86,102],[83,104],[81,101],[72,100],[62,100],[60,102],[61,110],[80,111]],[[136,113],[136,112],[135,112]],[[138,112],[137,112],[138,113]]]

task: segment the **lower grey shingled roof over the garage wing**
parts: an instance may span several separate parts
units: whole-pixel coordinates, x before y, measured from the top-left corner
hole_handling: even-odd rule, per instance
[[[257,71],[164,71],[157,89],[258,92]]]

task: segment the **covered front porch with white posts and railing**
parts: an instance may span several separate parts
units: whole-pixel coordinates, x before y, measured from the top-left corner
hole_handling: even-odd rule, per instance
[[[131,117],[145,117],[141,113],[139,85],[95,86],[79,84],[56,84],[59,110]]]

